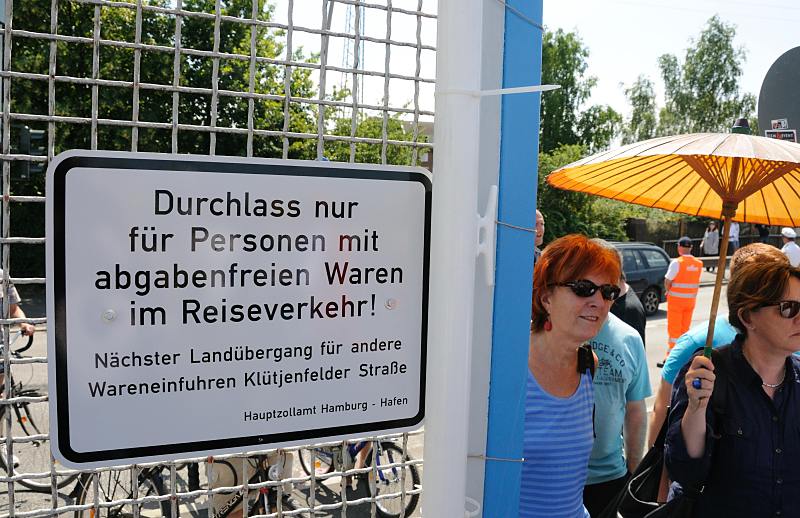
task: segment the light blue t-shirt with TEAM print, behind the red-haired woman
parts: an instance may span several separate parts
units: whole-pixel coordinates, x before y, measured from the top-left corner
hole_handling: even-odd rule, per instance
[[[650,375],[642,337],[631,326],[608,314],[600,332],[589,343],[599,363],[594,374],[595,419],[589,476],[586,484],[599,484],[625,476],[622,425],[631,401],[650,396]]]

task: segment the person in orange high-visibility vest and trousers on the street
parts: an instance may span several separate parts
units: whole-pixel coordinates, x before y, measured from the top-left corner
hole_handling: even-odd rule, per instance
[[[692,255],[692,240],[686,236],[678,240],[677,259],[669,263],[664,275],[667,291],[667,354],[675,346],[678,337],[692,325],[692,313],[700,289],[700,273],[703,262]]]

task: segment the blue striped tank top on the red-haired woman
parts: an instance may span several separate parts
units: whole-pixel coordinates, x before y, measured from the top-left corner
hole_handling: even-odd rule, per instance
[[[528,371],[522,487],[525,518],[589,518],[583,486],[592,451],[594,390],[589,371],[569,397],[548,394]]]

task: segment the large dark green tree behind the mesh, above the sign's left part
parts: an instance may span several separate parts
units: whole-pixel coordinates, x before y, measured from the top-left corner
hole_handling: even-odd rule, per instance
[[[135,0],[125,0],[135,4]],[[145,0],[147,5],[173,7],[172,0]],[[213,13],[215,0],[184,0],[187,11]],[[64,36],[92,38],[96,7],[91,3],[76,0],[58,2],[57,33]],[[16,0],[14,2],[14,28],[47,34],[50,32],[50,0]],[[222,0],[221,11],[226,17],[250,20],[252,0]],[[258,0],[256,17],[267,21],[272,16],[268,0]],[[132,43],[136,39],[136,10],[130,6],[102,5],[100,11],[100,38],[104,40]],[[176,42],[176,18],[154,11],[142,12],[141,42],[143,44],[172,49],[179,43],[183,49],[194,51],[214,50],[214,19],[183,17],[181,40]],[[283,96],[285,74],[291,73],[291,95],[296,98],[315,98],[317,89],[311,78],[311,69],[306,67],[286,68],[269,63],[284,54],[284,33],[263,25],[234,23],[223,20],[220,25],[219,52],[249,56],[251,30],[256,31],[256,63],[254,75],[250,76],[250,60],[219,58],[218,85],[220,91],[249,92],[252,80],[253,93],[266,96]],[[315,57],[306,57],[302,49],[293,50],[297,61],[312,62]],[[49,74],[50,42],[35,38],[15,37],[10,68],[13,71]],[[56,75],[79,79],[93,78],[92,45],[76,41],[58,41],[56,44]],[[97,77],[101,80],[134,80],[136,54],[134,49],[103,45],[99,50]],[[173,85],[174,52],[142,49],[140,59],[140,83]],[[188,89],[212,89],[214,60],[197,53],[185,53],[180,59],[180,86]],[[48,114],[48,83],[43,80],[14,77],[11,82],[11,111],[26,114]],[[91,118],[93,97],[97,96],[97,118],[117,121],[134,120],[134,91],[122,84],[102,84],[96,87],[80,82],[57,82],[55,85],[54,113],[58,116]],[[173,118],[173,93],[170,91],[140,88],[137,120],[151,123],[170,123]],[[243,96],[218,96],[216,125],[218,127],[247,128],[249,100]],[[178,123],[209,127],[212,120],[212,95],[195,91],[184,91],[179,95]],[[293,133],[316,133],[316,108],[309,103],[292,102],[289,106],[288,129]],[[284,101],[282,99],[258,98],[253,100],[253,127],[256,130],[282,131],[284,129]],[[17,142],[23,125],[12,121],[11,140]],[[25,123],[38,130],[47,130],[48,124]],[[66,149],[86,149],[91,144],[92,125],[75,122],[54,123],[55,152]],[[97,147],[108,150],[130,150],[134,132],[137,133],[139,151],[172,151],[171,128],[138,128],[129,126],[98,124]],[[290,158],[314,158],[314,139],[290,138]],[[210,133],[207,131],[180,130],[178,151],[182,153],[206,154],[210,148]],[[217,132],[216,153],[219,155],[245,155],[247,136]],[[280,136],[257,135],[253,139],[255,156],[282,156],[283,142]],[[44,175],[36,175],[28,181],[14,179],[11,185],[14,194],[41,195],[44,193]],[[13,204],[11,233],[18,236],[44,235],[44,207],[41,204]],[[41,276],[44,254],[39,246],[19,246],[13,250],[12,266],[16,276]]]

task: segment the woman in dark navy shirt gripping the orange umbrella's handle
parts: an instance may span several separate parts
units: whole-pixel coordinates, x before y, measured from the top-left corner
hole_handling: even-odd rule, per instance
[[[797,516],[800,509],[800,269],[751,263],[728,285],[741,334],[714,363],[696,356],[676,379],[665,461],[696,495],[693,516]],[[712,392],[724,397],[712,411]],[[719,410],[718,408],[716,410]]]

